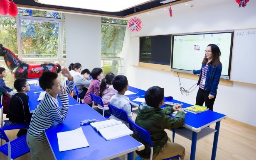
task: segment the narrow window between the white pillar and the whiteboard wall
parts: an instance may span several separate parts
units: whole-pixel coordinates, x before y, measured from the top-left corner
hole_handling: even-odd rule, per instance
[[[120,56],[126,24],[127,20],[101,18],[101,68],[104,75],[108,72],[123,74],[123,59]]]

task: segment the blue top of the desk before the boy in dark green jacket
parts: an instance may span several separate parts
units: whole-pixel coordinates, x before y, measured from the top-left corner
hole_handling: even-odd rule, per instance
[[[133,105],[136,104],[136,106],[138,107],[141,104],[141,102],[133,101],[136,98],[138,98],[138,97],[130,98],[130,103],[133,104]],[[144,95],[140,96],[140,98],[144,98]],[[177,101],[175,99],[165,100],[165,102],[166,101],[174,102],[174,103],[182,103],[183,104],[182,108],[192,106],[192,104],[187,104],[187,103],[184,103],[184,102],[180,102],[180,101]],[[163,108],[163,107],[165,107],[165,106],[162,105],[160,108]],[[172,116],[172,117],[174,117],[174,116]],[[206,111],[206,112],[202,112],[202,113],[199,113],[199,114],[193,114],[193,113],[187,112],[186,116],[185,116],[185,125],[184,125],[184,127],[189,128],[192,131],[199,132],[202,128],[207,127],[210,124],[214,124],[217,121],[219,121],[221,119],[224,119],[225,117],[226,117],[226,115],[220,114],[220,113],[217,113],[217,112],[213,112],[213,111]]]

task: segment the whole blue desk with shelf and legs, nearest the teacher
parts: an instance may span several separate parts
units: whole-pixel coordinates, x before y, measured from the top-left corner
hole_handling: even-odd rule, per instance
[[[143,96],[139,96],[140,98],[144,98]],[[130,103],[134,106],[138,107],[141,102],[136,102],[134,99],[138,97],[132,97],[130,98]],[[177,101],[175,99],[172,100],[165,100],[169,102],[174,103],[183,103],[182,108],[190,107],[191,104],[187,104],[184,102]],[[165,107],[164,105],[161,106],[161,108]],[[173,117],[173,116],[172,116]],[[199,114],[193,114],[188,112],[185,116],[185,124],[184,128],[176,128],[174,131],[175,133],[179,134],[180,136],[183,136],[185,138],[188,138],[192,141],[191,144],[191,153],[190,153],[190,160],[195,159],[195,153],[196,153],[196,147],[197,147],[197,141],[204,138],[205,136],[209,136],[210,134],[214,133],[214,141],[213,141],[213,147],[212,147],[212,160],[215,160],[216,158],[216,152],[217,152],[217,144],[218,144],[218,137],[219,137],[219,126],[220,121],[222,119],[226,119],[227,116],[224,114],[220,114],[213,111],[206,111]],[[211,124],[215,125],[215,129],[207,127]],[[172,131],[172,130],[170,130]]]

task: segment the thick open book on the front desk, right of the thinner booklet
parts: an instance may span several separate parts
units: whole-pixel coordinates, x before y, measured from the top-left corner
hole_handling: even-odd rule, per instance
[[[115,119],[90,123],[107,141],[133,134],[125,124]]]

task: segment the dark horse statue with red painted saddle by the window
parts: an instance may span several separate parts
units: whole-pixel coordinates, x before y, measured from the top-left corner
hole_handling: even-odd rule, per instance
[[[60,73],[61,66],[58,63],[28,64],[20,59],[9,49],[0,44],[0,56],[4,57],[7,67],[12,71],[12,77],[19,78],[39,78],[43,72],[51,71]]]

